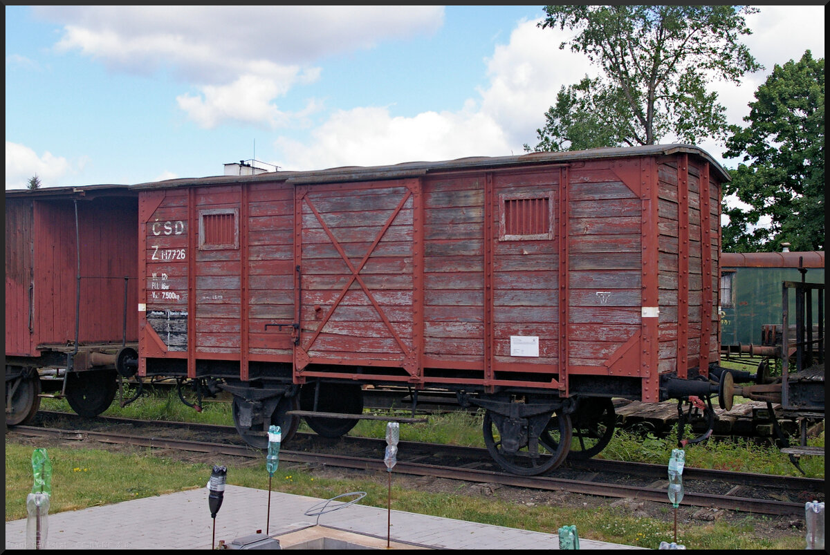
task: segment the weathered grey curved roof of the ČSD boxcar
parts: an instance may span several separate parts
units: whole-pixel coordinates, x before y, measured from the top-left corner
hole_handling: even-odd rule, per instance
[[[179,178],[166,181],[139,183],[132,187],[137,189],[189,187],[205,185],[227,185],[228,183],[254,182],[274,179],[286,183],[334,183],[344,181],[361,181],[367,179],[411,178],[432,172],[463,169],[486,169],[538,163],[569,163],[579,160],[596,160],[600,158],[631,158],[637,156],[658,156],[674,153],[690,153],[706,160],[715,168],[715,173],[722,181],[729,181],[729,173],[716,163],[706,151],[691,144],[653,144],[627,148],[592,148],[558,153],[529,153],[520,156],[472,157],[458,158],[442,162],[407,162],[388,166],[343,167],[312,171],[283,171],[260,173],[251,176],[215,176],[206,178]]]

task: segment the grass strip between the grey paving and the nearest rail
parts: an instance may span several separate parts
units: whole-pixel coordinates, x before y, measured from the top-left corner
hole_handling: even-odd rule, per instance
[[[119,503],[129,499],[204,487],[211,466],[188,464],[155,455],[151,450],[134,454],[105,450],[49,447],[52,463],[51,513]],[[6,441],[6,519],[26,517],[26,495],[32,488],[32,447]],[[385,472],[363,480],[320,479],[300,469],[280,468],[272,489],[288,494],[329,499],[347,491],[366,491],[363,504],[385,508]],[[393,479],[394,480],[394,479]],[[265,461],[229,468],[228,484],[266,489]],[[497,497],[497,495],[496,495]],[[540,504],[513,504],[494,497],[434,494],[393,485],[392,508],[443,518],[556,533],[575,524],[580,538],[657,548],[673,540],[671,523],[657,518],[636,518],[623,509],[588,507],[585,510]],[[207,507],[205,507],[207,510]],[[754,517],[758,518],[758,517]],[[140,523],[137,523],[140,524]],[[681,523],[678,543],[689,549],[800,549],[802,534],[789,531],[774,538],[756,538],[754,523]]]

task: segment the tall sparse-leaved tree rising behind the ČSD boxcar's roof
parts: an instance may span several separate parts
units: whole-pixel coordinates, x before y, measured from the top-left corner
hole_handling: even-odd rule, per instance
[[[725,108],[713,79],[739,82],[762,69],[739,42],[751,31],[735,6],[547,6],[542,28],[568,27],[559,45],[582,52],[602,75],[563,86],[534,148],[577,150],[656,144],[666,134],[694,144],[725,139]],[[525,144],[525,150],[530,151]]]

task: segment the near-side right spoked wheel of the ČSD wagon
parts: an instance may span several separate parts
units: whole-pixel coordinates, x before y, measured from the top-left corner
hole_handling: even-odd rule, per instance
[[[490,451],[493,460],[512,474],[522,476],[535,476],[553,470],[562,464],[565,456],[568,455],[568,446],[571,436],[571,422],[568,415],[562,415],[557,419],[557,431],[559,437],[567,441],[559,443],[554,449],[549,448],[542,441],[538,442],[538,453],[530,453],[530,445],[527,439],[527,431],[520,433],[519,449],[515,453],[504,449],[502,438],[496,422],[493,420],[491,411],[484,415],[484,443]]]

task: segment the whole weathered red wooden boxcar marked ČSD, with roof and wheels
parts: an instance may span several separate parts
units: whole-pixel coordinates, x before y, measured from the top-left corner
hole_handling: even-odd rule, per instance
[[[348,431],[367,384],[447,388],[548,470],[610,397],[710,392],[726,179],[656,145],[134,186],[139,375],[232,392],[260,446]]]

